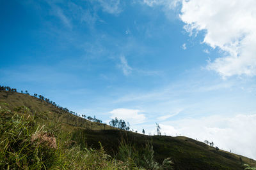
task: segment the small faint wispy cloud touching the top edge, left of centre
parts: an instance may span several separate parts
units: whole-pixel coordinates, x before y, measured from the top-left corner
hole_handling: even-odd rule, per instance
[[[122,9],[120,7],[120,0],[98,0],[100,5],[102,6],[102,10],[111,14],[119,14]]]

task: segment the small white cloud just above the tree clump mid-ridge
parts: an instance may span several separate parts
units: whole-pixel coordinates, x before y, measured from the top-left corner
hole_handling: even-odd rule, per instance
[[[139,114],[140,110],[131,110],[125,108],[118,108],[110,111],[111,118],[118,118],[129,122],[131,125],[141,124],[145,122],[146,117],[144,114]]]

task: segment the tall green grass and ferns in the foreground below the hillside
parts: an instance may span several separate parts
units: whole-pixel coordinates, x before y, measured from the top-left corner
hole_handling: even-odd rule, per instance
[[[42,122],[41,114],[0,112],[0,169],[172,169],[170,159],[154,161],[152,145],[139,153],[123,142],[118,160],[101,143],[98,150],[81,148],[61,124]]]

